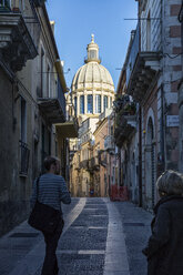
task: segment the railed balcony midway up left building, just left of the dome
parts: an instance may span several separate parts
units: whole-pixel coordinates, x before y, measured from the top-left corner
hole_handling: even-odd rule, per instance
[[[62,123],[65,122],[65,98],[58,80],[58,91],[54,98],[39,98],[38,105],[48,123]]]

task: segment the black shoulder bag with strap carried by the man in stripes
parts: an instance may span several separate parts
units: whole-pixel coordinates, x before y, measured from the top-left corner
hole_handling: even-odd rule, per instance
[[[30,226],[34,227],[35,230],[45,232],[45,233],[53,233],[61,220],[61,213],[53,207],[40,203],[38,201],[39,195],[39,177],[37,180],[37,202],[30,213],[28,223]]]

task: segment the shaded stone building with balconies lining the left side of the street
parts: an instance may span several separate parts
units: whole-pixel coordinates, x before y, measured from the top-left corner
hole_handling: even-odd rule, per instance
[[[67,84],[43,2],[0,3],[0,234],[27,218],[44,156],[67,165],[54,125],[67,120]]]

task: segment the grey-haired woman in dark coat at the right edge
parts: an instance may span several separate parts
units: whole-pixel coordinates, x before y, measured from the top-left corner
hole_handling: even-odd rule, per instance
[[[156,182],[160,201],[154,207],[152,235],[143,253],[148,275],[183,274],[183,175],[164,172]]]

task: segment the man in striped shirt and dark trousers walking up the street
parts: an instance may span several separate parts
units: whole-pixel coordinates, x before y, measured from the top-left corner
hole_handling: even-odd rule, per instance
[[[37,181],[34,181],[32,196],[30,200],[31,208],[33,208],[37,200],[60,211],[60,221],[53,233],[42,231],[45,242],[45,257],[42,266],[41,275],[57,275],[59,273],[58,259],[55,255],[58,242],[63,230],[63,218],[61,202],[71,203],[70,192],[68,191],[64,179],[60,175],[60,161],[53,156],[44,159],[44,167],[47,173],[39,177],[39,192],[37,194]]]

